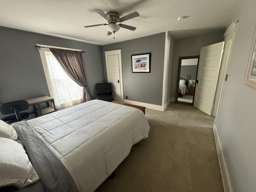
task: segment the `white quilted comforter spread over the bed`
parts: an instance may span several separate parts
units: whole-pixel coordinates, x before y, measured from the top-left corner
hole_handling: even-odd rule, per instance
[[[150,130],[141,110],[101,100],[27,122],[56,152],[78,192],[96,190]]]

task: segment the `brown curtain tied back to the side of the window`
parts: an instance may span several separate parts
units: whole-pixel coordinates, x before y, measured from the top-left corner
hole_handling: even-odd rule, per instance
[[[60,63],[60,66],[74,80],[78,85],[83,87],[82,102],[92,100],[91,94],[88,90],[86,78],[84,74],[84,62],[82,53],[79,51],[63,50],[50,48],[54,57]]]

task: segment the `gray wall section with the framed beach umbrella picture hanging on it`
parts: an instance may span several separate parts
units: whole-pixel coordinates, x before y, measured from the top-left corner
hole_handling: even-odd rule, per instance
[[[165,33],[102,46],[104,51],[122,49],[122,76],[124,98],[162,105]],[[131,55],[151,54],[150,73],[132,73]],[[105,80],[106,62],[104,62]]]

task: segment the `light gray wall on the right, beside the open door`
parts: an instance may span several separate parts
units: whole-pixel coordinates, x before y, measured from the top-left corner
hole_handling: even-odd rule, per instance
[[[238,11],[228,80],[224,82],[216,128],[234,192],[256,190],[256,90],[244,85],[256,27],[256,1]]]

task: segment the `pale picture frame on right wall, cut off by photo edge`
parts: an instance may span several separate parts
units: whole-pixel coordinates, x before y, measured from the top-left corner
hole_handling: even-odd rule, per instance
[[[256,28],[248,61],[244,84],[256,90]]]

